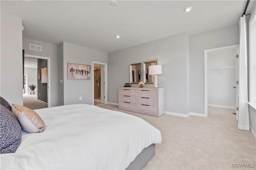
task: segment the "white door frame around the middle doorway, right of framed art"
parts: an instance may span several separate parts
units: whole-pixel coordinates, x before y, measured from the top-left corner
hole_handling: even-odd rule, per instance
[[[108,103],[108,64],[107,63],[100,63],[97,61],[92,61],[92,69],[94,69],[94,64],[100,64],[100,65],[104,65],[104,103]],[[94,105],[94,71],[92,71],[93,75],[92,75],[92,104]],[[101,92],[101,89],[100,89]]]

